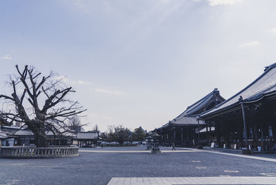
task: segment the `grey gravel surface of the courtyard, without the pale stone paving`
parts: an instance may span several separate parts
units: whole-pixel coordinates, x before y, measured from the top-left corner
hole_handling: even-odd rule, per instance
[[[146,146],[137,146],[96,150],[134,151],[145,149]],[[171,148],[161,149],[171,150]],[[0,158],[0,166],[0,184],[100,185],[107,184],[111,177],[262,176],[261,173],[276,173],[274,162],[205,152],[155,155],[80,152],[79,157],[55,159],[12,160]]]

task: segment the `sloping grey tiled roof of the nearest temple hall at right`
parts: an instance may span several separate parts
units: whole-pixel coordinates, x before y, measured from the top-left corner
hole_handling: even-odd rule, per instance
[[[259,76],[253,83],[250,83],[247,87],[239,91],[237,94],[229,98],[228,100],[221,102],[210,111],[206,111],[201,114],[202,118],[206,118],[215,113],[230,109],[239,102],[250,102],[262,99],[265,95],[276,92],[276,63],[265,67],[264,73]],[[242,99],[240,99],[242,96]]]

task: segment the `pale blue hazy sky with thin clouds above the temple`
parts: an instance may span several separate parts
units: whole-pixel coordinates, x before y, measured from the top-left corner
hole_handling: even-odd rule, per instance
[[[150,131],[276,62],[274,0],[0,1],[0,93],[14,65],[63,77],[86,131]]]

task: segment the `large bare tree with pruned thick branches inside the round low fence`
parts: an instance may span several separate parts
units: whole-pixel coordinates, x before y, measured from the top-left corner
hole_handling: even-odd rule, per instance
[[[11,96],[0,95],[5,100],[1,119],[6,123],[23,122],[23,126],[26,124],[34,133],[36,146],[46,147],[46,129],[54,134],[69,132],[68,118],[86,110],[77,101],[67,98],[75,91],[66,87],[54,73],[41,76],[28,65],[22,71],[18,65],[16,69],[17,75],[10,76]],[[8,105],[11,105],[10,109],[7,109]]]

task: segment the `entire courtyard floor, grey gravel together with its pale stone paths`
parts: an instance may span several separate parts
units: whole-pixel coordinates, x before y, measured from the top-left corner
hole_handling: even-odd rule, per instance
[[[276,184],[274,155],[145,146],[80,149],[79,157],[0,158],[0,184]]]

